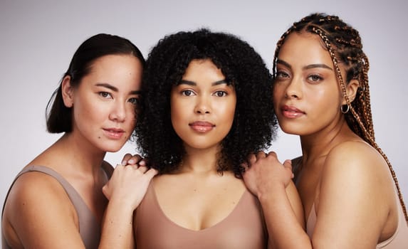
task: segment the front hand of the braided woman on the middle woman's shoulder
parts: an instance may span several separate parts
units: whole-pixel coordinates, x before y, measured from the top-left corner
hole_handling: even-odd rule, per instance
[[[280,186],[286,189],[293,178],[291,160],[281,164],[275,152],[250,154],[243,166],[246,169],[244,183],[258,197],[270,194]]]

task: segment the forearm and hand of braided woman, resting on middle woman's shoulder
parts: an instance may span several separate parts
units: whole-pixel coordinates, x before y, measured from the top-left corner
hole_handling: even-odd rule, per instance
[[[261,202],[269,244],[273,248],[311,248],[290,162],[282,165],[275,153],[266,156],[260,152],[250,157],[249,164],[244,181]]]

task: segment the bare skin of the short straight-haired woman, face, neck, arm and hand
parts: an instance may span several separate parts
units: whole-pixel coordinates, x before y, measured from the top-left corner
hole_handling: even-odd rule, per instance
[[[145,166],[117,166],[113,171],[103,161],[106,152],[119,150],[132,134],[141,75],[142,65],[134,56],[105,55],[93,62],[78,88],[71,87],[69,76],[64,78],[63,100],[73,107],[73,131],[28,164],[57,171],[78,191],[101,223],[100,248],[133,247],[132,212],[157,173]],[[107,186],[102,165],[113,171]],[[85,248],[66,191],[40,172],[16,180],[2,228],[12,248]]]

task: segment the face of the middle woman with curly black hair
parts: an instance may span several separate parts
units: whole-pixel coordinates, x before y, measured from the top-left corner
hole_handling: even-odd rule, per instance
[[[236,93],[211,60],[192,60],[170,101],[172,125],[186,149],[219,148],[234,122]]]

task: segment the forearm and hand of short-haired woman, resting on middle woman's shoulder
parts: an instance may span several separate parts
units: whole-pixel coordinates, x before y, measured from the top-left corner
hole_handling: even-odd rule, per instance
[[[156,174],[155,169],[147,169],[146,166],[116,166],[112,178],[103,187],[109,204],[105,211],[100,248],[134,248],[133,211]]]

